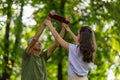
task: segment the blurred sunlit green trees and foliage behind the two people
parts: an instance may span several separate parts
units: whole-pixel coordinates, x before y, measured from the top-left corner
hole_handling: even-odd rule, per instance
[[[20,80],[22,52],[51,10],[72,16],[71,30],[82,25],[95,31],[97,52],[89,80],[120,80],[120,0],[0,0],[0,80]],[[61,23],[52,20],[59,32]],[[46,27],[44,47],[55,41]],[[66,33],[64,39],[74,43]],[[58,47],[47,62],[48,80],[67,80],[68,53]],[[5,77],[3,77],[3,75]]]

